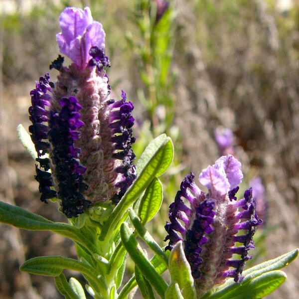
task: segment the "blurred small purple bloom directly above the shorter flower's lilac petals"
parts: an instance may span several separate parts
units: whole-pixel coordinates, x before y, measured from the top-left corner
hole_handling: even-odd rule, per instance
[[[214,131],[214,137],[221,155],[235,155],[235,136],[231,129],[217,127]]]

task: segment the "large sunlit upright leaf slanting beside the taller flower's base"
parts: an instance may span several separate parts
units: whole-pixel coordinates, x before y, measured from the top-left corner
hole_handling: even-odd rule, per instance
[[[113,231],[119,230],[121,220],[125,217],[128,208],[149,186],[153,178],[162,174],[169,167],[173,159],[171,139],[165,134],[155,138],[144,151],[141,159],[138,167],[140,172],[105,222],[99,237],[100,241],[107,242],[107,239],[113,236]]]

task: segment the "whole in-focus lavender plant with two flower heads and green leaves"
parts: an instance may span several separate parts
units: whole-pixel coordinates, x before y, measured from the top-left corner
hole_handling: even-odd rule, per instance
[[[219,158],[199,175],[186,175],[170,205],[168,246],[161,248],[145,228],[162,202],[158,179],[173,159],[171,139],[151,141],[136,166],[132,144],[134,106],[122,92],[112,99],[106,68],[105,32],[88,7],[67,7],[60,15],[58,56],[52,82],[40,77],[30,93],[30,137],[20,125],[22,144],[36,160],[41,201],[57,201],[68,223],[52,222],[22,208],[0,203],[0,221],[27,230],[50,230],[75,242],[78,259],[36,257],[21,271],[53,276],[66,299],[85,299],[80,283],[63,270],[80,272],[95,299],[125,299],[138,286],[147,299],[262,298],[277,289],[280,271],[298,256],[294,250],[246,271],[253,234],[262,223],[252,189],[236,200],[241,163]],[[165,235],[166,235],[165,232]],[[138,237],[138,238],[137,238]],[[140,239],[154,253],[149,260]],[[123,283],[128,254],[135,274]],[[234,255],[240,256],[235,258]],[[170,273],[170,281],[161,274]]]

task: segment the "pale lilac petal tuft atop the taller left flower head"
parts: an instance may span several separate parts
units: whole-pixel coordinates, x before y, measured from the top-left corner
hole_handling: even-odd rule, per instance
[[[91,47],[105,48],[102,24],[93,20],[89,7],[84,10],[66,7],[60,15],[59,23],[61,32],[56,35],[56,40],[60,52],[84,69],[92,58],[89,54]]]

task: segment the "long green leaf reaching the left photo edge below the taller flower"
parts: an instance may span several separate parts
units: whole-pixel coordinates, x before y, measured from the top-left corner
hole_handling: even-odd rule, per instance
[[[72,225],[53,222],[23,208],[0,201],[0,221],[27,230],[49,230],[80,243],[91,253],[99,253],[92,240]]]

